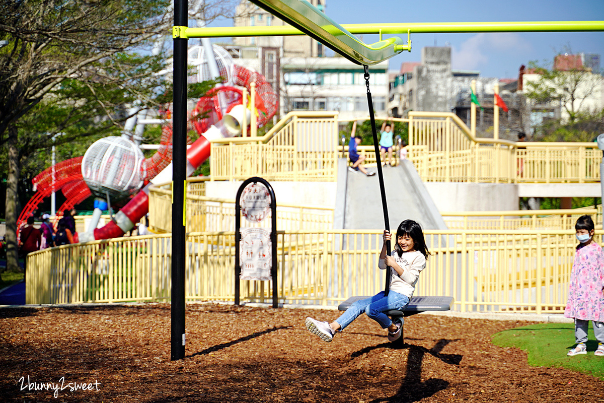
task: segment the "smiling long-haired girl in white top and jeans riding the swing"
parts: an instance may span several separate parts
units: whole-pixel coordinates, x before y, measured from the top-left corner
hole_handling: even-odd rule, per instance
[[[430,254],[423,237],[422,227],[413,220],[405,220],[396,230],[396,243],[390,256],[386,256],[386,242],[391,239],[390,231],[384,230],[384,246],[379,255],[378,267],[391,267],[390,292],[384,291],[364,300],[356,301],[344,314],[332,323],[306,318],[306,328],[324,341],[332,341],[336,331],[341,332],[363,312],[388,329],[388,340],[395,341],[402,333],[402,323],[393,321],[384,312],[404,309],[413,297],[420,272],[426,267]]]

